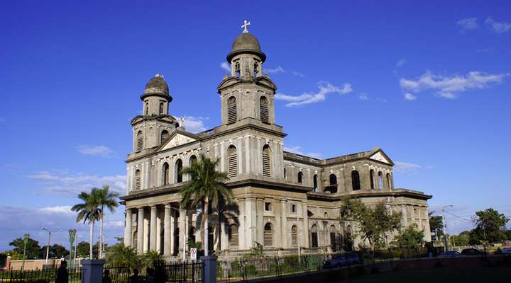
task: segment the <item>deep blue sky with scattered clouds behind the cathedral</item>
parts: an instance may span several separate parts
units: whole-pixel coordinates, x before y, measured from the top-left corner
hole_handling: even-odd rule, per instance
[[[433,195],[432,210],[454,204],[455,232],[479,209],[511,215],[510,1],[103,2],[1,4],[0,250],[27,231],[42,246],[42,226],[88,238],[69,206],[92,186],[124,190],[129,121],[154,74],[187,129],[219,125],[221,64],[245,19],[287,149],[381,147],[397,187]]]

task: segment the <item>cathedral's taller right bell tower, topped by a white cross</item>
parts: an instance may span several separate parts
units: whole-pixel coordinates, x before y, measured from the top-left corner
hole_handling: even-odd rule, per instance
[[[222,124],[236,124],[251,120],[263,125],[275,124],[273,100],[277,86],[263,76],[266,55],[261,52],[257,38],[242,25],[243,33],[234,40],[227,62],[231,64],[231,76],[224,77],[218,86],[221,97]]]

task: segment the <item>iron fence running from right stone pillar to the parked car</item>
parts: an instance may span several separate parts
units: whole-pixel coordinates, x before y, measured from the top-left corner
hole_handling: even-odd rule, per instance
[[[281,277],[296,273],[312,272],[322,269],[329,255],[297,255],[285,257],[260,257],[233,261],[216,262],[216,280],[218,282],[246,281],[262,277]]]

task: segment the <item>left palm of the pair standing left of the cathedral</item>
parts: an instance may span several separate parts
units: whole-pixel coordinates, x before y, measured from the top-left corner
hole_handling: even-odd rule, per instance
[[[75,204],[73,207],[71,207],[71,210],[73,212],[78,212],[77,215],[77,222],[80,222],[83,220],[83,223],[89,222],[90,224],[90,258],[92,260],[93,254],[92,254],[92,246],[93,246],[93,239],[94,239],[94,222],[99,219],[99,216],[101,215],[101,208],[99,207],[99,202],[97,200],[97,195],[99,190],[97,187],[93,187],[90,194],[87,192],[81,192],[78,195],[78,198],[82,200],[82,203]]]

